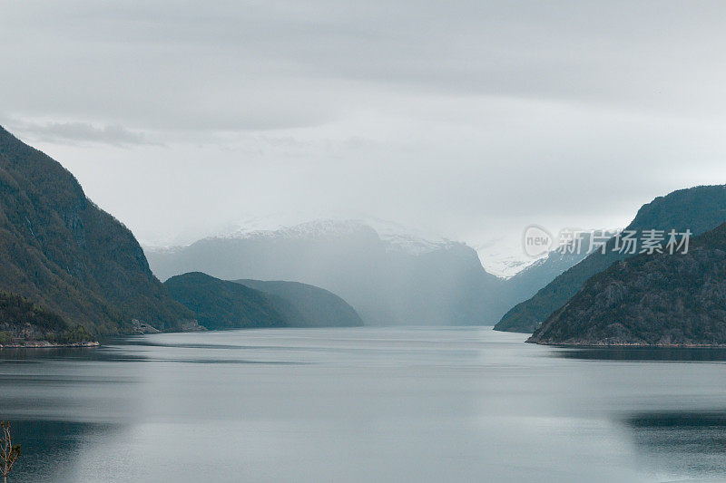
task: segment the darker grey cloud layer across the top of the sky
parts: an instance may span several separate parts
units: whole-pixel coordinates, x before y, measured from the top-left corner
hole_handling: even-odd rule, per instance
[[[0,6],[0,105],[195,131],[317,126],[400,94],[724,111],[726,5],[609,5],[28,1]]]

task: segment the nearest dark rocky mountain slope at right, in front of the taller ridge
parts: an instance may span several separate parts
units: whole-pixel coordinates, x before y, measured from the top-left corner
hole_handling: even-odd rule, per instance
[[[686,254],[632,256],[594,275],[527,342],[726,345],[726,224]]]

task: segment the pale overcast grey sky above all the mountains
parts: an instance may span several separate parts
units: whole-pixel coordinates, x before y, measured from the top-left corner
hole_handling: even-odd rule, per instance
[[[723,2],[0,2],[0,124],[145,244],[375,217],[484,252],[726,182]]]

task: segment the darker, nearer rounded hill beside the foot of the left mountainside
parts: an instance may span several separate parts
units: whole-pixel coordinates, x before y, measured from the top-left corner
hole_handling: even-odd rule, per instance
[[[208,329],[291,325],[268,295],[245,285],[200,272],[172,276],[164,285]]]

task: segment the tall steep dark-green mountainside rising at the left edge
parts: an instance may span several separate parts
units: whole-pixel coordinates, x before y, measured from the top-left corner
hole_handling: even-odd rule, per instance
[[[195,324],[152,275],[131,231],[54,159],[0,128],[0,291],[89,333]]]

